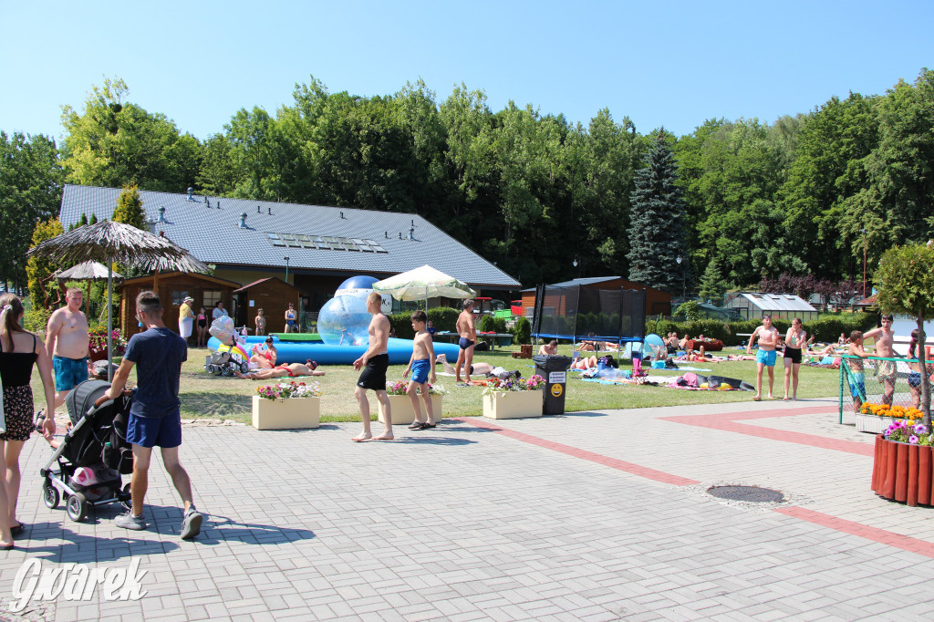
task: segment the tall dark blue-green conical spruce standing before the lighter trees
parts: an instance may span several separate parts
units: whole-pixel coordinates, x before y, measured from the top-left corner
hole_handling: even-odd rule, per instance
[[[662,130],[635,173],[630,203],[630,281],[676,291],[683,274],[675,261],[686,252],[685,207],[678,167]]]

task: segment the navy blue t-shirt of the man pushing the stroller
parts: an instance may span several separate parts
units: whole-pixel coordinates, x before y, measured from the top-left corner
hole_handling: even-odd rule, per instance
[[[177,415],[181,364],[188,344],[167,328],[151,328],[130,337],[123,358],[136,365],[136,390],[130,412],[136,417]]]

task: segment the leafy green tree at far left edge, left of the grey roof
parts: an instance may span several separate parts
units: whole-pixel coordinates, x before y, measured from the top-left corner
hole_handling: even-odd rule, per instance
[[[57,214],[64,174],[55,142],[42,134],[0,132],[0,280],[25,282],[23,257],[36,222]]]

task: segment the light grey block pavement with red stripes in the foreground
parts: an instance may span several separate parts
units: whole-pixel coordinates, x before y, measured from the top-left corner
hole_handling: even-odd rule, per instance
[[[34,438],[21,460],[26,536],[0,559],[0,617],[929,619],[934,510],[871,493],[873,437],[838,425],[835,408],[465,417],[359,445],[349,423],[186,428],[182,462],[206,515],[194,542],[178,539],[161,464],[149,530],[115,528],[115,505],[83,523],[46,508],[37,473],[50,450]],[[714,484],[777,488],[788,501],[723,502],[706,494]],[[147,594],[106,601],[98,587],[90,601],[32,601],[12,615],[29,559],[138,559]]]

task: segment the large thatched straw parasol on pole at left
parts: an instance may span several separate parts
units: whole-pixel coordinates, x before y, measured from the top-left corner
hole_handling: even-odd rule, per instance
[[[207,272],[208,267],[187,250],[159,235],[132,225],[104,220],[62,233],[26,251],[30,257],[50,262],[74,263],[93,260],[107,266],[107,378],[113,362],[113,264],[133,265],[144,270]]]

